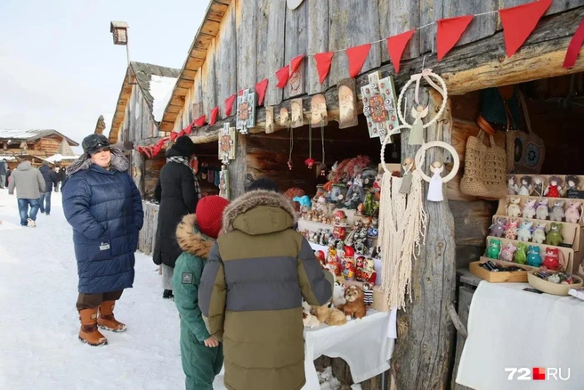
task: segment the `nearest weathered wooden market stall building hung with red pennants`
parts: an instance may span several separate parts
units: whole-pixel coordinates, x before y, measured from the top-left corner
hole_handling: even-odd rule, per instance
[[[461,167],[456,180],[448,184],[448,202],[426,204],[429,215],[426,247],[413,265],[411,303],[407,310],[398,313],[391,378],[374,378],[363,384],[363,388],[382,388],[382,383],[384,390],[395,386],[399,389],[462,388],[454,380],[455,354],[459,356],[464,343],[464,332],[457,334],[454,322],[458,320],[456,311],[465,310],[462,304],[457,304],[457,269],[467,268],[483,254],[488,227],[497,208],[494,201],[469,197],[460,191],[466,140],[479,131],[476,118],[481,111],[483,90],[516,85],[527,97],[533,131],[547,146],[541,173],[582,173],[581,158],[578,158],[581,142],[576,142],[579,134],[574,129],[581,118],[577,97],[582,92],[584,61],[579,59],[570,69],[564,69],[562,64],[584,17],[584,1],[553,2],[531,36],[511,57],[505,51],[497,11],[530,0],[304,1],[294,10],[288,9],[286,3],[285,0],[210,1],[160,120],[160,135],[181,131],[194,118],[221,107],[233,93],[247,88],[253,91],[254,85],[267,77],[270,83],[264,104],[255,109],[255,127],[249,134],[238,135],[236,158],[228,166],[231,199],[243,193],[249,181],[259,177],[277,180],[282,190],[301,187],[312,195],[318,180],[313,172],[305,169],[303,162],[311,151],[313,156],[320,157],[323,145],[328,167],[339,158],[360,153],[379,163],[398,162],[415,153],[417,148],[407,145],[409,132],[404,131],[388,147],[392,149],[385,154],[385,161],[380,161],[379,140],[369,138],[361,115],[361,86],[369,83],[370,72],[379,71],[381,77],[393,76],[399,90],[412,74],[421,69],[434,69],[445,80],[449,98],[443,120],[427,128],[426,141],[449,142],[458,152]],[[456,47],[438,61],[433,22],[466,14],[480,16],[466,28]],[[410,28],[418,29],[403,53],[401,69],[396,74],[384,38]],[[371,42],[361,72],[354,78],[356,109],[360,114],[357,126],[344,129],[338,126],[338,85],[349,77],[343,53],[335,53],[323,83],[319,82],[313,57],[308,57],[298,69],[299,86],[295,85],[294,90],[289,85],[275,86],[274,72],[297,55],[338,51]],[[430,106],[436,107],[434,93],[426,87],[423,89]],[[291,134],[288,126],[280,125],[280,109],[289,110],[292,99],[302,99],[304,123],[308,123],[315,93],[324,94],[327,102],[328,126],[323,141],[320,128],[302,126]],[[265,134],[267,108],[273,110],[272,134]],[[223,109],[215,125],[193,130],[194,142],[216,144],[223,123],[235,126],[235,117],[226,115]],[[293,149],[291,138],[296,140]],[[157,136],[142,137],[135,143],[150,145],[158,139]],[[506,134],[499,133],[495,139],[497,144],[506,147]],[[439,152],[430,154],[435,159],[448,159]],[[292,169],[288,169],[288,158],[292,159]],[[148,160],[135,158],[134,161],[136,169],[149,170]],[[466,318],[464,313],[460,317]],[[337,362],[333,367],[337,377],[352,383],[345,365]]]

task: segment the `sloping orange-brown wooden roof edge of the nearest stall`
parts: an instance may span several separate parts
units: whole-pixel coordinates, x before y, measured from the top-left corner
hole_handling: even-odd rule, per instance
[[[223,20],[223,16],[230,4],[231,0],[210,0],[205,19],[192,41],[187,59],[184,61],[183,69],[181,69],[178,81],[174,85],[172,97],[166,106],[158,130],[166,132],[173,130],[174,121],[178,113],[183,109],[185,96],[195,81],[197,70],[207,58],[207,49],[219,33],[221,20]]]

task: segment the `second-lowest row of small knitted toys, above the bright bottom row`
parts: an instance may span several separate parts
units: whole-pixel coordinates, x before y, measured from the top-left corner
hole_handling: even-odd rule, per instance
[[[523,218],[521,216],[509,217],[507,215],[493,215],[490,229],[491,236],[498,236],[500,234],[502,237],[507,235],[507,231],[509,229],[516,229],[517,232],[515,236],[518,236],[519,232],[523,231],[522,236],[527,238],[527,241],[524,240],[524,242],[535,242],[534,240],[539,240],[542,243],[547,240],[547,235],[549,232],[555,232],[556,230],[559,230],[562,236],[560,246],[564,248],[572,248],[574,252],[580,251],[580,240],[582,232],[580,223]]]

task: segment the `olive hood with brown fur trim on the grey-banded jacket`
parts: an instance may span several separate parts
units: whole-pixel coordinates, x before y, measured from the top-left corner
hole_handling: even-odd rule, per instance
[[[280,232],[296,223],[290,201],[273,191],[249,191],[223,212],[223,232],[239,230],[250,235]]]

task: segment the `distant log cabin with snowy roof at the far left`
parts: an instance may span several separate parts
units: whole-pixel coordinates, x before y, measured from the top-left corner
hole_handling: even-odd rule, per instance
[[[63,150],[67,150],[69,155],[71,146],[79,144],[52,129],[0,129],[0,158],[6,158],[11,169],[16,167],[23,157],[31,157],[34,166],[40,166],[45,160],[54,165],[56,160],[53,157]],[[70,153],[72,154],[72,151]]]

